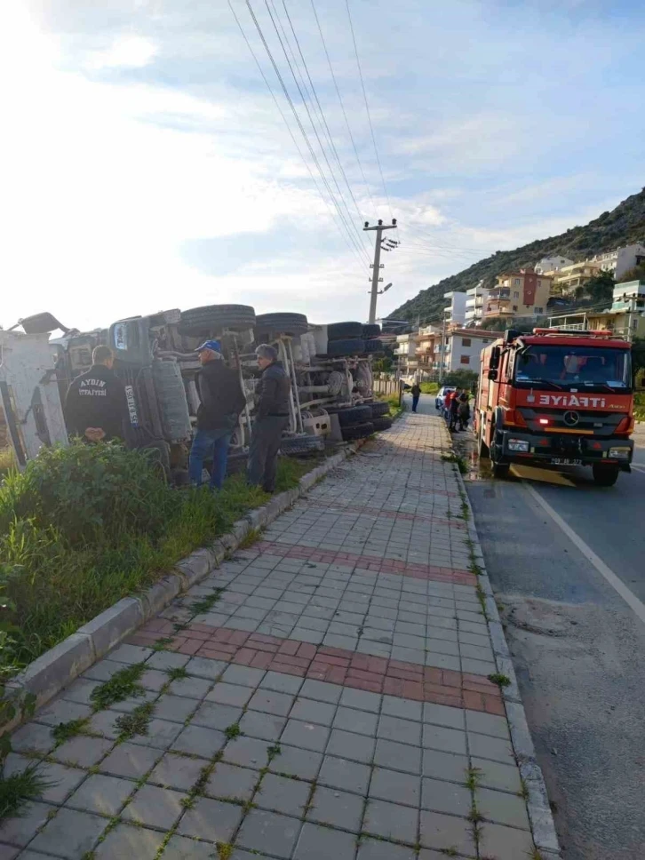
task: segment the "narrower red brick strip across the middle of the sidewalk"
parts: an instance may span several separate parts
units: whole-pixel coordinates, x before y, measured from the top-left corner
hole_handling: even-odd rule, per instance
[[[302,561],[324,561],[330,564],[346,564],[360,567],[374,573],[398,573],[413,579],[432,579],[436,582],[451,582],[457,585],[476,585],[477,578],[469,570],[440,568],[432,564],[416,564],[412,561],[378,558],[375,555],[354,555],[338,553],[335,550],[318,549],[315,546],[283,544],[279,541],[260,541],[253,545],[258,554],[279,555],[282,558],[302,559]]]

